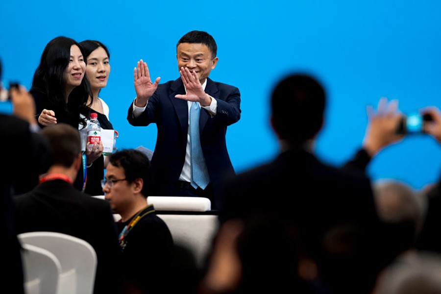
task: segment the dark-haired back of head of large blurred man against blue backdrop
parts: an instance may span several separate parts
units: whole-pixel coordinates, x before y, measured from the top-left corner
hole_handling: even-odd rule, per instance
[[[324,109],[323,87],[306,74],[286,76],[271,95],[273,127],[288,142],[302,143],[314,138],[323,123]]]

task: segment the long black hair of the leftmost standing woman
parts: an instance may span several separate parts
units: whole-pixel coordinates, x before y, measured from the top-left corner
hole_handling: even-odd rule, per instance
[[[40,64],[35,70],[30,92],[43,93],[49,99],[50,104],[65,109],[68,113],[79,110],[79,113],[87,118],[89,117],[89,108],[86,103],[89,96],[92,97],[92,95],[86,76],[69,95],[74,99],[69,99],[66,103],[64,71],[69,65],[73,45],[78,46],[83,56],[85,55],[82,47],[71,38],[59,36],[49,41],[41,55]],[[89,105],[92,105],[92,102]],[[81,120],[78,117],[78,120],[84,123],[84,119]]]

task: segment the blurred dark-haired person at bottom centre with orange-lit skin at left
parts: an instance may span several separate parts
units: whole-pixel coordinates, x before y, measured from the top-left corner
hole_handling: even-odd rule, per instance
[[[270,214],[225,221],[198,293],[317,293],[297,273],[297,237],[294,226]]]

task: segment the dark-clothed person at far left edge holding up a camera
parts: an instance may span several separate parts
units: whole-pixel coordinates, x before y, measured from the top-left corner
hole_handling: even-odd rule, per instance
[[[38,184],[38,174],[46,172],[49,167],[49,144],[38,133],[34,100],[23,86],[12,87],[8,91],[2,88],[0,83],[0,96],[9,96],[11,100],[0,103],[12,103],[12,113],[0,113],[0,153],[4,167],[0,177],[0,218],[4,252],[8,256],[10,273],[3,275],[0,282],[7,293],[23,293],[21,245],[17,239],[11,197],[32,190]],[[8,106],[1,109],[10,109],[11,105]]]

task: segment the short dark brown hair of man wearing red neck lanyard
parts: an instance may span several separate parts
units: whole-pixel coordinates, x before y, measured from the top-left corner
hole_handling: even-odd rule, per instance
[[[67,123],[57,123],[48,125],[41,132],[48,138],[53,165],[71,167],[75,158],[81,153],[78,129]]]

